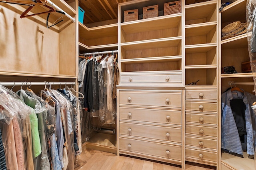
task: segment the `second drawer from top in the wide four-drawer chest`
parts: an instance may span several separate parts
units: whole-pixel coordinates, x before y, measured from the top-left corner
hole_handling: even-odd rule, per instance
[[[143,108],[119,108],[120,119],[181,125],[181,111]]]

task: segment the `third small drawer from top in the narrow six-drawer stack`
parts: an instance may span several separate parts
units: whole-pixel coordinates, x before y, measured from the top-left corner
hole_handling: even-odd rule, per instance
[[[217,125],[218,117],[217,115],[186,113],[186,122],[195,122],[195,123],[200,123],[201,125],[205,123]]]

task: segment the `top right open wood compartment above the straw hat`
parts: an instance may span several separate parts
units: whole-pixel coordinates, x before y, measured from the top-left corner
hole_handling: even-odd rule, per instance
[[[221,20],[222,28],[234,21],[246,22],[246,0],[237,0],[224,7],[221,12]]]

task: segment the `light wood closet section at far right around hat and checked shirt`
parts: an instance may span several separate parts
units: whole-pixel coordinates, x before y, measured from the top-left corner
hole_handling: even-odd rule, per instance
[[[224,2],[223,0],[221,2]],[[240,21],[242,23],[246,22],[246,0],[237,0],[236,2],[223,8],[220,13],[221,18],[221,28],[232,23],[234,21]],[[248,43],[247,35],[242,34],[228,39],[220,41],[221,43],[221,55],[220,55],[220,65],[224,66],[234,66],[238,73],[236,74],[221,74],[220,71],[220,82],[219,86],[221,90],[219,96],[222,92],[225,92],[230,85],[231,81],[234,82],[253,82],[252,73],[244,73],[241,69],[241,63],[250,61],[248,53]],[[254,94],[253,85],[237,85],[239,88],[244,89],[246,92]],[[219,104],[219,114],[221,114],[221,106]],[[220,121],[221,123],[221,121]],[[219,146],[220,147],[220,146]],[[254,160],[248,158],[248,154],[244,152],[244,158],[234,156],[228,153],[219,152],[219,157],[221,157],[221,169],[223,170],[234,170],[234,169],[246,169],[254,170]]]

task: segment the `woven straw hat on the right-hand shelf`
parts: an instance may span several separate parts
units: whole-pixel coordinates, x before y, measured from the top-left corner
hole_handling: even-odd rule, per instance
[[[232,22],[221,29],[221,40],[235,37],[236,35],[246,33],[247,23],[240,21]]]

